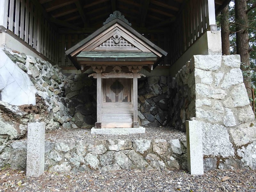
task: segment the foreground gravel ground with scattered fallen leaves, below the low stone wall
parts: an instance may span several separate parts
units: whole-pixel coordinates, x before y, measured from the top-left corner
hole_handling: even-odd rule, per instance
[[[192,176],[173,170],[117,172],[44,172],[28,178],[25,172],[2,170],[0,191],[256,191],[256,172],[215,170]]]

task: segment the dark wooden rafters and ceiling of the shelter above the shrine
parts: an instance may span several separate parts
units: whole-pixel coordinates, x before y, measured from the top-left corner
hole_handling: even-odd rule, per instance
[[[168,31],[186,0],[38,0],[60,33],[92,33],[120,11],[140,33]],[[217,12],[226,0],[215,0]]]

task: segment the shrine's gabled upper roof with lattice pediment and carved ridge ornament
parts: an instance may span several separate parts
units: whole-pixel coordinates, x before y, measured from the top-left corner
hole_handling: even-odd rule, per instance
[[[118,16],[116,16],[118,15]],[[82,58],[81,52],[87,52],[87,55],[92,55],[92,58],[150,58],[146,52],[154,54],[156,59],[154,65],[167,55],[167,52],[161,49],[159,46],[148,40],[142,34],[133,29],[130,23],[121,15],[120,12],[115,11],[110,17],[103,23],[104,25],[92,33],[90,36],[80,41],[65,53],[77,69],[80,69],[80,63],[78,58]],[[109,46],[111,44],[111,46]],[[114,44],[114,45],[113,45]],[[101,52],[94,54],[95,51]],[[84,52],[84,53],[85,53]],[[89,52],[94,52],[90,54]],[[104,53],[103,52],[108,52]],[[126,55],[121,55],[116,52],[127,52]],[[130,52],[130,53],[128,53]],[[145,53],[144,55],[138,55],[139,53]],[[114,54],[115,53],[115,54]],[[93,56],[94,54],[94,56]],[[102,54],[102,56],[100,56]],[[112,54],[109,56],[109,54]],[[80,55],[80,56],[78,56]],[[77,57],[78,56],[78,57]],[[84,60],[85,57],[83,57]],[[89,58],[89,56],[87,57]],[[99,59],[94,59],[99,60]],[[102,60],[102,59],[101,59]],[[123,60],[123,59],[122,59]],[[136,59],[134,59],[136,60]]]

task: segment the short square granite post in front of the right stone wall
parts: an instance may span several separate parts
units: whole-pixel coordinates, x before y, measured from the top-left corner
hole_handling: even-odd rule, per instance
[[[198,121],[186,121],[188,171],[191,175],[204,174],[202,127]]]

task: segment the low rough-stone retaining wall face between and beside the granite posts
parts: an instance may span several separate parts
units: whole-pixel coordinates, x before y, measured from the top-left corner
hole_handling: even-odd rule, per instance
[[[26,169],[27,141],[14,141],[0,154],[0,166]],[[45,170],[187,169],[185,140],[58,140],[45,143]]]

